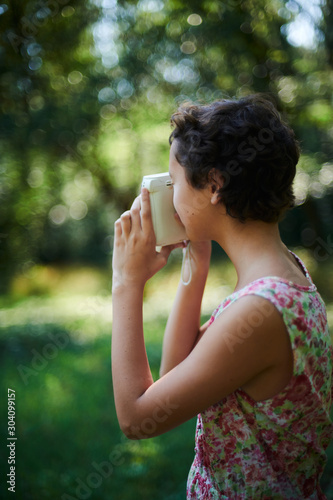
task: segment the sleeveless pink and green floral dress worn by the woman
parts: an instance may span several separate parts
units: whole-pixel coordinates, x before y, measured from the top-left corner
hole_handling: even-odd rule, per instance
[[[319,480],[333,437],[332,346],[323,300],[293,255],[309,286],[260,278],[227,297],[212,315],[211,322],[244,295],[270,301],[289,333],[293,375],[271,399],[256,402],[239,388],[198,415],[187,499],[326,498]]]

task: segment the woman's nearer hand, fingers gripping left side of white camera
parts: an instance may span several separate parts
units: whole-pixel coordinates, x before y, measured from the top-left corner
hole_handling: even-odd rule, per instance
[[[171,251],[182,246],[183,243],[168,245],[156,252],[149,192],[142,189],[131,210],[115,222],[112,289],[144,287],[149,278],[166,265]]]

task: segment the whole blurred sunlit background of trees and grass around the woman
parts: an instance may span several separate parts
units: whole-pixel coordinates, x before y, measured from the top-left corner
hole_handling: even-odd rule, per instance
[[[143,175],[168,170],[170,115],[182,102],[274,96],[302,147],[281,234],[333,325],[332,33],[332,0],[0,4],[0,348],[3,393],[14,385],[20,409],[21,498],[184,498],[194,423],[125,440],[109,359],[113,223]],[[180,260],[145,291],[155,376]],[[214,247],[204,317],[234,284]],[[57,334],[70,339],[63,349]],[[0,424],[6,433],[5,416]],[[123,461],[102,477],[92,464],[112,450]]]

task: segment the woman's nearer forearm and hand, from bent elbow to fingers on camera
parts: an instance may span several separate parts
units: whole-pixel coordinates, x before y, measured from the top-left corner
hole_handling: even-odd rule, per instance
[[[156,252],[149,193],[115,222],[112,274],[112,379],[116,410],[126,427],[133,404],[153,383],[144,338],[142,303],[145,283],[179,245]]]

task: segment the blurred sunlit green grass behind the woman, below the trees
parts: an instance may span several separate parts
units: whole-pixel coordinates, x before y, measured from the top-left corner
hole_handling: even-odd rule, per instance
[[[42,279],[48,273],[53,277],[52,290],[48,290],[48,279]],[[145,337],[155,378],[178,275],[175,262],[146,290]],[[16,497],[184,499],[193,460],[195,419],[150,440],[129,441],[119,430],[112,393],[112,318],[105,275],[77,270],[71,271],[68,280],[65,270],[53,269],[43,270],[43,276],[35,279],[34,293],[29,290],[29,280],[19,278],[13,296],[3,299],[0,311],[2,398],[8,388],[16,392]],[[228,265],[211,274],[204,315],[230,293],[234,279]],[[92,288],[94,295],[89,295]],[[328,312],[333,326],[331,303]],[[7,436],[7,404],[1,404],[0,428]],[[3,451],[4,475],[4,471],[8,473],[8,451]],[[333,443],[322,480],[329,499],[333,499],[332,477]],[[0,483],[0,498],[12,498],[7,486],[5,481]]]

